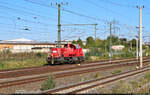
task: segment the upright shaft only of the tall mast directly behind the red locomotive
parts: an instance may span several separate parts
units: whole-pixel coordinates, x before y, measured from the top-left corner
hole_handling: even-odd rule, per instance
[[[61,24],[60,24],[60,4],[58,4],[58,41],[57,45],[60,48],[61,47]]]

